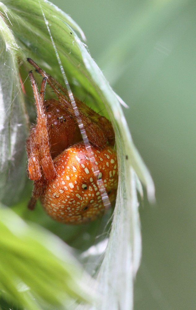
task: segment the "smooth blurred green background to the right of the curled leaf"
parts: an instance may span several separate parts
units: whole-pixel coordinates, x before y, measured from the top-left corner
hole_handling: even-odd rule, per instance
[[[196,3],[53,0],[81,26],[155,181],[135,310],[196,308]],[[123,310],[123,309],[122,309]]]

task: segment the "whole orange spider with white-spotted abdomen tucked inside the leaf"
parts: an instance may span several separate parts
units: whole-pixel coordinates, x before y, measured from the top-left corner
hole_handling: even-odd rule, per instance
[[[28,208],[33,210],[41,197],[46,212],[59,222],[80,224],[94,220],[104,213],[104,201],[115,201],[118,186],[111,122],[74,97],[79,111],[76,116],[68,91],[33,60],[27,60],[43,76],[39,93],[33,73],[29,73],[37,124],[26,143],[28,176],[34,180]],[[46,82],[58,100],[44,100]],[[83,142],[78,119],[85,128],[90,151]]]

